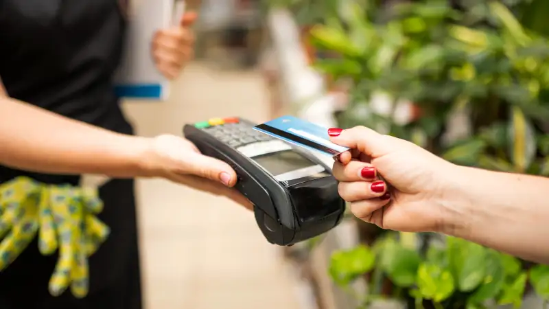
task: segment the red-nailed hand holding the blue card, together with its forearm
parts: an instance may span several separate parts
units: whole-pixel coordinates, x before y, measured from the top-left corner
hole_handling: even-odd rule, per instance
[[[334,176],[358,218],[383,229],[445,233],[549,263],[549,179],[454,165],[360,126],[328,134],[351,148],[334,163]]]

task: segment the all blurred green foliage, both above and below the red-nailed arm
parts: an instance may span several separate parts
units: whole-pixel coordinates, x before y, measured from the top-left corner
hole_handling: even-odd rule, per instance
[[[533,10],[545,4],[399,2],[339,1],[312,29],[316,47],[337,54],[316,67],[352,85],[340,126],[367,125],[460,165],[549,176],[549,27],[539,17],[545,12]],[[389,111],[372,106],[379,93],[390,98]],[[396,121],[402,101],[418,106],[421,117]],[[468,130],[449,139],[456,113],[467,115]],[[410,244],[409,237],[389,233],[371,247],[336,253],[330,273],[342,286],[366,275],[364,304],[384,295],[411,297],[417,308],[518,308],[528,282],[549,299],[546,266],[529,269],[455,238],[439,244],[439,236],[418,234]]]

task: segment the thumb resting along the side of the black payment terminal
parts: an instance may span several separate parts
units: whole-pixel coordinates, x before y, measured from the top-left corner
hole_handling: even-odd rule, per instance
[[[189,162],[189,165],[185,168],[187,174],[221,182],[227,187],[232,187],[236,183],[235,170],[231,168],[231,165],[221,160],[193,152],[189,156]]]

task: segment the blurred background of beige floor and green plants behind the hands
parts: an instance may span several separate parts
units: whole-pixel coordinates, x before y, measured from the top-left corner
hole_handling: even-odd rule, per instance
[[[370,126],[461,165],[549,176],[547,0],[187,0],[196,60],[140,135],[291,114]],[[545,308],[549,267],[349,216],[274,247],[218,196],[140,180],[148,309]],[[482,205],[479,205],[482,207]],[[543,245],[543,244],[540,244]]]

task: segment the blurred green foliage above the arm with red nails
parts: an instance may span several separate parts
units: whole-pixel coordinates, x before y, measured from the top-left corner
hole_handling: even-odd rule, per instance
[[[404,139],[425,137],[430,150],[455,163],[549,172],[537,144],[549,119],[544,36],[522,27],[495,1],[477,1],[469,10],[455,10],[447,1],[414,1],[386,11],[341,1],[336,12],[344,14],[327,17],[311,32],[314,45],[338,54],[316,67],[353,82],[353,102],[340,115],[344,126],[369,124]],[[390,17],[379,22],[370,16]],[[414,102],[423,117],[395,124],[369,106],[377,93]],[[445,144],[443,128],[457,109],[469,111],[473,135]]]

